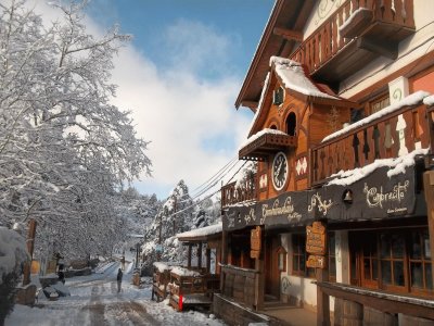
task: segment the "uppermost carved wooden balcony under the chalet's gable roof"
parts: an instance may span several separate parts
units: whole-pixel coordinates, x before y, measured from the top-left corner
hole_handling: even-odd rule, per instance
[[[347,0],[291,55],[318,82],[336,85],[380,55],[396,59],[414,33],[412,0]]]

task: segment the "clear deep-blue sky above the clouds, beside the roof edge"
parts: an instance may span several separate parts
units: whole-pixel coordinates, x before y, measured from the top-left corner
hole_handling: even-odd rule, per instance
[[[272,5],[273,0],[91,0],[88,13],[102,26],[120,24],[124,33],[133,35],[135,47],[156,64],[171,50],[164,37],[169,26],[201,23],[231,41],[227,64],[243,77]],[[203,77],[209,76],[204,72]]]

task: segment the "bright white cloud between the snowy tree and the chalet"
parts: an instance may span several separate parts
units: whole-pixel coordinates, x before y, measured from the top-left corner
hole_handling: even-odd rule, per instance
[[[233,108],[238,80],[210,83],[176,66],[156,68],[132,47],[122,51],[115,66],[115,104],[131,109],[138,134],[152,141],[154,177],[143,179],[146,191],[158,191],[152,188],[157,185],[168,195],[181,178],[197,186],[237,154],[250,124]],[[222,140],[221,147],[204,148],[216,137],[233,138],[234,147]]]

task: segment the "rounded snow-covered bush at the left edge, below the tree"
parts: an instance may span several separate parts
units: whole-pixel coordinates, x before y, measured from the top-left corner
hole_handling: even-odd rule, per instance
[[[0,284],[2,276],[10,274],[28,260],[25,239],[16,231],[0,226]]]

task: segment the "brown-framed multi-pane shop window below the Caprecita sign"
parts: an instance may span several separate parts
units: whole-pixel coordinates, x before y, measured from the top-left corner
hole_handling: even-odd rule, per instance
[[[349,234],[352,284],[434,296],[427,228]]]

